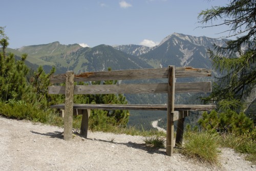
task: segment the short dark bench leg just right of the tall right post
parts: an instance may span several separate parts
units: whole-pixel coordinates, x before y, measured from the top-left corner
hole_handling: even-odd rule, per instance
[[[188,111],[179,111],[180,118],[178,119],[177,132],[176,132],[176,145],[182,144],[183,132],[184,132],[184,121],[185,117],[188,116]]]

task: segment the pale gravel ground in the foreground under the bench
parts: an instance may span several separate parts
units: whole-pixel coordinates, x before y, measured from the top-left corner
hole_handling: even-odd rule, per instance
[[[211,166],[165,149],[145,147],[143,137],[89,132],[63,140],[63,129],[0,116],[1,170],[256,170],[231,149]]]

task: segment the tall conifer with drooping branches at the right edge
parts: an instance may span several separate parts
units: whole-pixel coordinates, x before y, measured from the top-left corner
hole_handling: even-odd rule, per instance
[[[211,23],[202,28],[229,26],[230,29],[222,32],[229,35],[222,38],[236,37],[234,40],[227,40],[225,46],[214,44],[215,52],[209,51],[213,68],[220,75],[206,100],[229,104],[232,110],[242,111],[249,96],[255,100],[256,2],[231,0],[224,7],[201,11],[199,19],[203,24]],[[255,114],[251,117],[255,117]]]

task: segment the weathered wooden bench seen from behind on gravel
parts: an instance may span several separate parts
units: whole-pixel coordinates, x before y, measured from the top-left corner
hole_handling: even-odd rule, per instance
[[[105,110],[166,110],[166,154],[171,156],[174,149],[174,121],[178,120],[176,143],[182,142],[184,118],[190,110],[211,110],[215,105],[175,105],[175,92],[210,92],[211,82],[175,83],[176,78],[209,77],[211,71],[192,67],[174,67],[156,69],[131,69],[116,71],[86,72],[74,75],[74,71],[54,75],[51,83],[66,83],[66,86],[49,86],[49,94],[65,94],[65,104],[51,106],[65,109],[64,139],[72,139],[73,113],[82,114],[81,134],[87,137],[90,109]],[[74,82],[106,80],[159,79],[161,83],[116,84],[116,85],[74,85]],[[162,83],[163,79],[166,80]],[[126,93],[167,93],[167,105],[119,105],[119,104],[74,104],[74,94],[126,94]]]

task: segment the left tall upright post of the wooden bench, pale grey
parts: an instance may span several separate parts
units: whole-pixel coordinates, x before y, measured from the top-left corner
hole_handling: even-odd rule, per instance
[[[64,140],[72,139],[74,106],[74,71],[66,72]]]

